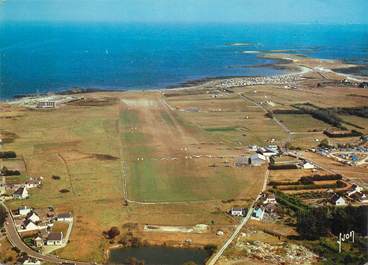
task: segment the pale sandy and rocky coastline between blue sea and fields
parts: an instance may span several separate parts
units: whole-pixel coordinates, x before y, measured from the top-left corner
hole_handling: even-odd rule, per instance
[[[269,64],[260,64],[260,65],[249,65],[249,66],[239,66],[244,68],[261,68],[261,67],[271,67],[274,69],[285,70],[285,73],[276,74],[276,75],[260,75],[260,76],[217,76],[217,77],[204,77],[199,79],[187,80],[178,84],[169,85],[163,88],[147,88],[147,89],[126,89],[126,88],[117,88],[117,89],[109,89],[109,88],[80,88],[80,87],[71,87],[65,90],[56,91],[56,92],[47,92],[41,94],[20,94],[14,95],[9,99],[2,99],[1,102],[13,102],[17,100],[22,100],[25,98],[39,98],[39,97],[48,97],[50,95],[57,96],[68,96],[68,95],[77,95],[77,94],[89,94],[89,93],[99,93],[99,92],[142,92],[142,91],[170,91],[170,90],[183,90],[183,89],[191,89],[194,87],[207,87],[209,85],[214,85],[222,82],[231,82],[232,80],[252,80],[252,79],[264,79],[271,80],[277,78],[284,77],[292,77],[292,76],[303,76],[305,74],[311,72],[318,73],[330,73],[334,74],[337,77],[341,77],[342,79],[346,79],[352,82],[367,82],[368,76],[360,76],[354,74],[356,69],[365,69],[364,65],[350,64],[343,62],[341,60],[330,60],[323,58],[311,58],[306,57],[301,54],[289,54],[289,53],[274,53],[274,52],[264,52],[260,53],[258,57],[262,57],[265,59],[272,59],[275,62]],[[266,82],[266,81],[265,81]]]

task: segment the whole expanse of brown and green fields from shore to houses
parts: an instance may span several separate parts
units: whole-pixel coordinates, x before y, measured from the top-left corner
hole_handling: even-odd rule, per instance
[[[102,232],[126,224],[134,224],[135,235],[155,244],[186,238],[147,234],[144,224],[207,224],[208,233],[191,236],[193,245],[220,244],[217,229],[229,234],[238,222],[226,212],[249,206],[264,183],[266,166],[234,165],[249,153],[248,145],[283,145],[288,139],[294,146],[310,148],[326,138],[321,131],[327,125],[310,115],[277,115],[280,125],[268,111],[301,103],[323,108],[366,105],[364,97],[347,95],[355,88],[317,89],[313,80],[305,82],[296,89],[259,85],[88,93],[53,110],[4,104],[0,133],[9,140],[3,150],[19,157],[5,162],[22,171],[9,181],[27,175],[44,178],[28,200],[8,206],[53,206],[72,212],[70,243],[55,253],[70,259],[103,262],[110,245]],[[368,95],[361,89],[354,93]],[[365,126],[360,119],[347,121]],[[341,166],[341,173],[354,181],[367,177],[366,169]],[[273,170],[269,180],[297,181],[311,174]]]

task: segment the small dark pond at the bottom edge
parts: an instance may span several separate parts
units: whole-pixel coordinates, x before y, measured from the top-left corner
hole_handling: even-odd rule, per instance
[[[209,255],[204,249],[194,248],[118,248],[111,250],[109,264],[130,264],[132,257],[139,261],[144,260],[145,265],[183,265],[188,261],[204,265]]]

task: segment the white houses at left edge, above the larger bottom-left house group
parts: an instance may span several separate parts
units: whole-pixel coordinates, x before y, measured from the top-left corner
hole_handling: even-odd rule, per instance
[[[3,177],[5,178],[5,177]],[[30,177],[26,182],[22,184],[8,184],[5,180],[0,184],[0,196],[5,199],[24,200],[29,197],[29,189],[39,188],[42,185],[43,177]],[[6,196],[6,194],[12,194]]]

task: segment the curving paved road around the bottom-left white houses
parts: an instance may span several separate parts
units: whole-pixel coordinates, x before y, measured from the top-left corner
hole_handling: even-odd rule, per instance
[[[12,217],[9,209],[3,203],[1,203],[1,205],[8,212],[8,216],[5,220],[4,227],[5,227],[5,231],[6,231],[6,236],[7,236],[9,242],[12,244],[13,247],[16,247],[21,252],[27,253],[27,255],[29,257],[36,258],[36,259],[46,261],[46,262],[50,262],[50,263],[54,263],[54,264],[61,264],[63,262],[73,263],[73,264],[77,264],[77,265],[92,264],[92,263],[87,263],[87,262],[76,262],[76,261],[71,261],[71,260],[65,260],[65,259],[61,259],[61,258],[58,258],[56,256],[53,256],[53,255],[43,255],[42,253],[39,253],[39,252],[31,249],[20,238],[20,236],[17,232],[17,229],[15,227],[13,217]]]

